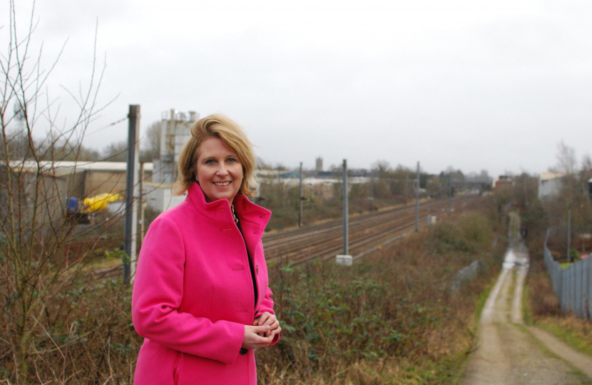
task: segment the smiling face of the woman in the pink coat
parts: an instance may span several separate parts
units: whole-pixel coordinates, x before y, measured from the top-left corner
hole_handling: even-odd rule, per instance
[[[196,179],[203,190],[206,202],[233,199],[243,183],[243,165],[238,155],[215,136],[203,140],[198,147]]]

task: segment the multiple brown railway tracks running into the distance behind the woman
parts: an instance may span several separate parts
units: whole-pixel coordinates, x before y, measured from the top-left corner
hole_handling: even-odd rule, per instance
[[[478,197],[456,197],[454,211],[469,209]],[[434,200],[419,207],[419,227],[426,226],[426,216],[441,216],[448,210],[448,200]],[[444,212],[443,212],[444,211]],[[349,218],[349,254],[354,260],[394,240],[409,235],[415,228],[415,206],[395,207],[381,212]],[[298,265],[310,260],[328,260],[342,252],[342,222],[331,220],[319,225],[277,232],[263,237],[267,262]]]

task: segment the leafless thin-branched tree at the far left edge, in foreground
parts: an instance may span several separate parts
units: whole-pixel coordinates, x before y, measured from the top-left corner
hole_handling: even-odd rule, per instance
[[[81,376],[103,383],[109,370],[101,357],[110,345],[103,341],[97,355],[91,341],[98,331],[115,327],[118,303],[88,305],[93,313],[111,312],[101,313],[96,324],[71,318],[77,306],[71,301],[86,301],[80,294],[84,287],[75,282],[86,274],[83,263],[101,233],[68,220],[66,198],[76,189],[76,173],[63,173],[56,161],[83,155],[88,126],[109,104],[97,105],[105,67],[98,66],[95,54],[86,88],[66,90],[78,111],[73,118],[60,117],[60,99],[48,88],[61,52],[49,68],[41,67],[41,49],[32,51],[34,3],[31,8],[24,35],[14,0],[9,14],[1,15],[6,22],[0,22],[0,39],[6,41],[0,53],[0,376],[7,384],[66,384]],[[73,354],[72,347],[81,343],[85,352]],[[74,356],[88,356],[88,362],[73,364]]]

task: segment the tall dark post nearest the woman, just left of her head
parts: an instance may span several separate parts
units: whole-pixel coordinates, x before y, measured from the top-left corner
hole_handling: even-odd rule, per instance
[[[129,260],[123,265],[123,282],[136,274],[136,230],[138,229],[138,160],[140,153],[140,106],[130,105],[128,115],[128,170],[126,173],[126,225],[123,248]]]

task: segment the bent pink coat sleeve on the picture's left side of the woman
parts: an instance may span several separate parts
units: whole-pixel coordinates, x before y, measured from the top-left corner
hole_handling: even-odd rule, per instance
[[[184,269],[185,247],[177,225],[166,217],[157,218],[143,242],[133,283],[136,332],[171,349],[232,364],[243,344],[245,326],[179,312]]]

